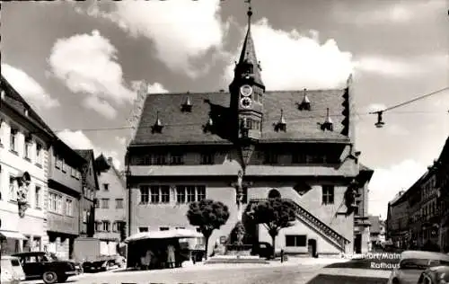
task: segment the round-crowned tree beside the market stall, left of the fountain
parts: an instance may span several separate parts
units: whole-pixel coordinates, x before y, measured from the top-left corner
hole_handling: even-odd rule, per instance
[[[229,218],[229,209],[220,201],[200,200],[190,203],[187,218],[190,225],[199,227],[200,232],[206,239],[207,259],[207,246],[210,235],[212,235],[215,229],[219,229],[226,224]]]

